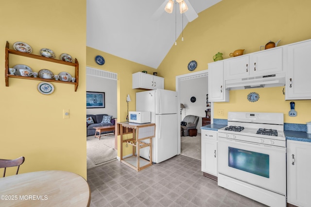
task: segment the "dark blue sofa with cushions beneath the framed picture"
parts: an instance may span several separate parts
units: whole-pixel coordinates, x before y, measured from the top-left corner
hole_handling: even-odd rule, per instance
[[[93,127],[96,126],[111,126],[115,125],[115,119],[112,119],[112,116],[107,114],[86,114],[86,136],[95,135],[96,129]],[[102,134],[112,133],[114,131],[102,132]]]

